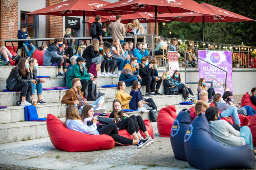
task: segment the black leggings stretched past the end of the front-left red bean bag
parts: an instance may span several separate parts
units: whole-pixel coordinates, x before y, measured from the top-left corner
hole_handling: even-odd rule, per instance
[[[102,134],[106,134],[111,136],[115,141],[125,144],[125,145],[132,145],[132,139],[120,136],[118,134],[117,125],[115,123],[110,123],[107,126],[98,130],[98,132]]]

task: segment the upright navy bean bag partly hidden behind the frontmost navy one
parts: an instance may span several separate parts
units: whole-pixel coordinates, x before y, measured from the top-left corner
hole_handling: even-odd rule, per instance
[[[175,159],[187,161],[184,149],[184,135],[191,122],[192,118],[188,109],[183,109],[173,122],[170,139]]]

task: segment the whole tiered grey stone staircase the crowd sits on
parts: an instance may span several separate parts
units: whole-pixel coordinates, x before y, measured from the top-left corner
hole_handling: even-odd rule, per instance
[[[2,73],[0,77],[0,91],[6,89],[6,79],[13,66],[1,66],[0,70]],[[159,76],[165,68],[158,68]],[[64,78],[57,77],[57,67],[56,66],[39,66],[38,75],[41,76],[51,76],[51,78],[44,78],[47,82],[43,84],[43,87],[64,87]],[[116,88],[102,88],[103,85],[117,84],[119,81],[118,76],[112,77],[98,77],[94,81],[97,84],[98,90],[105,93],[104,106],[107,112],[112,111],[112,103],[116,97]],[[131,87],[126,88],[126,92],[129,93]],[[38,105],[37,112],[39,118],[47,117],[47,114],[51,113],[55,116],[65,120],[66,115],[66,104],[61,104],[61,99],[65,95],[67,90],[52,90],[43,91],[42,98],[48,104]],[[141,87],[142,94],[145,94],[145,86]],[[159,89],[160,93],[164,93],[164,88],[161,85]],[[24,121],[24,106],[16,106],[16,102],[19,100],[20,92],[0,92],[0,106],[7,106],[5,109],[0,109],[0,144],[10,143],[15,141],[36,139],[42,137],[48,137],[46,122],[25,122]],[[34,96],[37,99],[37,95]],[[145,97],[146,98],[146,97]],[[179,105],[183,101],[181,95],[161,95],[152,96],[156,106],[160,110],[161,108],[168,105],[175,105],[177,113],[179,113],[184,108],[190,108],[190,106]],[[93,101],[87,101],[88,104]],[[140,115],[143,119],[149,119],[147,112],[130,112],[130,115]]]

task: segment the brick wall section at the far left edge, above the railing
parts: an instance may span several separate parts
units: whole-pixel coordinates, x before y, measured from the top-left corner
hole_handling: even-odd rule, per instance
[[[16,39],[18,32],[18,0],[0,0],[0,39]],[[4,42],[0,42],[0,46]],[[11,43],[7,43],[10,46]],[[17,43],[14,43],[17,46]]]

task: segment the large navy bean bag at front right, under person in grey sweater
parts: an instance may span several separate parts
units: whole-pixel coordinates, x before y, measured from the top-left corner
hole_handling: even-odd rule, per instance
[[[216,141],[205,115],[197,116],[184,136],[188,163],[197,169],[254,169],[255,157],[249,145],[226,146]]]

